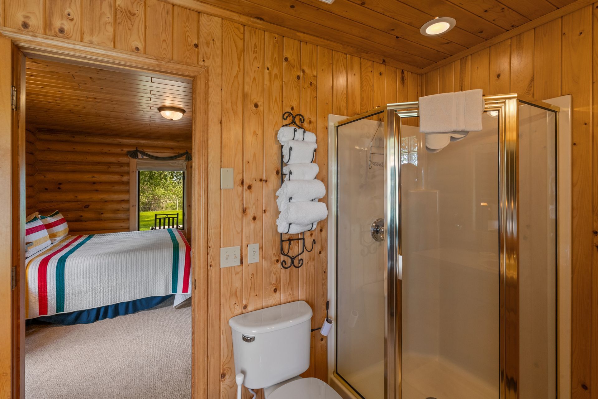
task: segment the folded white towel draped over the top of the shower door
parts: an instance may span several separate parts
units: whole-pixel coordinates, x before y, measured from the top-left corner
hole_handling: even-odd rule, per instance
[[[482,90],[441,93],[419,98],[422,133],[479,132],[482,130]]]

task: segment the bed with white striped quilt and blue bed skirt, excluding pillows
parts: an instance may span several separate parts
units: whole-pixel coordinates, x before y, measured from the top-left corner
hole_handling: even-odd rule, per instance
[[[177,229],[66,236],[28,258],[25,273],[26,319],[93,322],[188,299],[191,247]]]

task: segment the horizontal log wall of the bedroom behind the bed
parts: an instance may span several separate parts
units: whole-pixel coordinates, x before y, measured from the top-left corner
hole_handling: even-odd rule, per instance
[[[127,151],[182,153],[190,141],[38,130],[28,134],[28,214],[60,211],[72,233],[129,231]]]

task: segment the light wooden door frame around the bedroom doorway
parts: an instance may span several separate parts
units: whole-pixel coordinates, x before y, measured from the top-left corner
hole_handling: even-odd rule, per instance
[[[109,69],[112,71],[126,71],[128,73],[143,73],[168,75],[174,78],[187,78],[193,81],[193,132],[191,146],[193,156],[196,160],[196,170],[192,173],[191,201],[194,205],[193,220],[191,221],[194,234],[191,237],[191,270],[193,270],[193,295],[192,297],[192,371],[191,371],[191,392],[193,399],[207,397],[207,344],[208,335],[206,329],[208,318],[208,290],[207,290],[207,260],[208,260],[208,68],[204,66],[183,63],[173,60],[164,60],[144,54],[131,53],[129,51],[115,50],[114,48],[102,47],[93,44],[73,42],[66,39],[51,38],[49,36],[35,33],[25,33],[15,29],[0,28],[0,33],[11,39],[16,51],[16,64],[20,65],[21,71],[25,68],[25,57],[36,59],[55,60],[58,62],[74,65],[90,66],[92,68]],[[25,74],[22,74],[22,80]],[[23,89],[23,88],[21,88]],[[22,91],[20,92],[22,93]],[[25,95],[20,95],[20,109],[25,109]],[[4,105],[3,105],[4,106]],[[0,109],[0,112],[4,112]],[[13,112],[11,112],[12,114]],[[23,115],[22,112],[18,112]],[[24,145],[25,123],[20,121],[19,129],[22,129],[22,145],[13,148],[14,159],[11,160],[13,175],[19,175],[20,211],[25,218],[25,196],[21,191],[25,190],[25,151],[21,148]],[[3,138],[6,139],[6,138]],[[13,146],[14,147],[14,146]],[[14,184],[13,184],[14,187]],[[19,224],[24,222],[19,220]],[[23,303],[25,294],[25,260],[20,254],[24,253],[24,243],[21,230],[24,226],[13,232],[13,259],[20,264],[20,273],[17,276],[17,284],[22,288],[17,299]],[[17,237],[15,237],[17,236]],[[10,287],[8,287],[10,288]],[[0,290],[6,290],[1,287]],[[5,294],[0,291],[0,297]],[[10,362],[11,399],[23,399],[25,386],[25,324],[23,306],[14,303],[12,327],[16,328],[16,334],[11,337],[11,358],[15,358],[14,364],[11,358],[0,358],[0,369]],[[14,312],[17,310],[17,312]],[[1,337],[0,340],[8,339]],[[19,361],[20,359],[20,361]],[[2,384],[2,381],[0,381]]]

